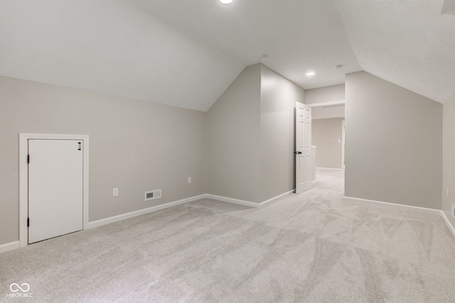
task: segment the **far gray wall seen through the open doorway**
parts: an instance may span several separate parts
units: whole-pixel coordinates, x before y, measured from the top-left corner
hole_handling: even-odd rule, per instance
[[[343,120],[343,118],[311,120],[311,144],[316,145],[316,167],[343,168],[341,160]]]

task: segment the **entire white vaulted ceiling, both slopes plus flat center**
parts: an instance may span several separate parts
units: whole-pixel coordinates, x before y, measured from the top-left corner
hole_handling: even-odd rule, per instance
[[[455,94],[455,16],[443,4],[0,0],[0,75],[207,111],[262,62],[304,89],[365,70],[444,103]]]

